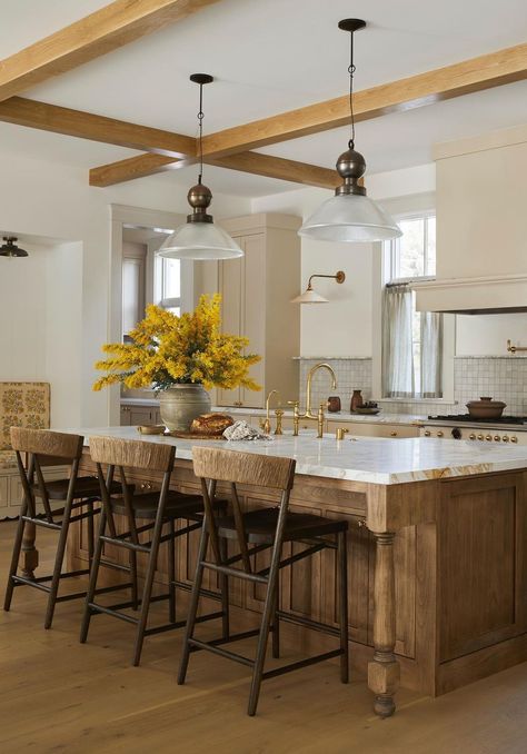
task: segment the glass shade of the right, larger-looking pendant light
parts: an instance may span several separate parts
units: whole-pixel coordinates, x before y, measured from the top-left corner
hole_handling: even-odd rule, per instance
[[[300,236],[321,241],[386,241],[402,235],[394,218],[366,195],[327,199],[304,222]]]

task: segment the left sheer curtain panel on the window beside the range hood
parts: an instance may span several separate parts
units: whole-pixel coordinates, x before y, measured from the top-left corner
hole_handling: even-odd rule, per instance
[[[412,292],[408,286],[387,286],[382,298],[382,394],[414,398]]]

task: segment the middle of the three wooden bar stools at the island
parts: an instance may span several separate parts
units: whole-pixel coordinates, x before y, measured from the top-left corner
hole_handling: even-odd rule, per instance
[[[136,642],[133,648],[133,665],[139,665],[142,652],[142,645],[146,636],[159,634],[172,628],[180,628],[187,621],[176,619],[176,587],[189,591],[189,586],[176,579],[175,562],[175,542],[179,537],[186,536],[190,532],[201,528],[203,520],[203,500],[201,495],[186,495],[169,489],[176,448],[172,445],[162,445],[160,443],[146,443],[141,440],[122,440],[111,437],[91,437],[90,455],[97,464],[97,474],[100,483],[102,498],[102,512],[100,518],[100,528],[96,543],[96,552],[90,575],[90,585],[86,596],[84,613],[82,618],[80,641],[83,644],[88,638],[90,619],[92,615],[102,613],[111,615],[121,621],[126,621],[137,626]],[[108,467],[107,476],[102,470],[102,465]],[[149,472],[162,473],[161,488],[159,492],[136,495],[127,482],[125,467],[130,469],[142,469]],[[119,470],[122,494],[115,496],[110,494],[110,487],[113,483],[116,468]],[[222,504],[219,504],[220,506]],[[225,510],[225,507],[222,508]],[[125,522],[125,530],[119,532],[119,519]],[[138,519],[147,523],[138,526]],[[187,526],[176,529],[175,524],[178,519],[186,519]],[[168,525],[168,534],[162,534],[162,528]],[[108,528],[108,533],[107,533]],[[150,533],[149,542],[141,542],[141,535]],[[153,577],[157,569],[159,547],[162,543],[168,543],[168,592],[166,594],[152,596]],[[129,571],[132,575],[131,599],[116,605],[101,605],[95,602],[97,579],[105,544],[115,545],[126,549],[130,554],[130,566],[120,566]],[[137,554],[147,555],[147,567],[145,574],[145,584],[142,596],[138,598],[137,587]],[[111,565],[105,563],[103,565]],[[199,621],[210,621],[221,617],[223,619],[223,633],[228,635],[228,589],[226,579],[220,579],[221,594],[210,591],[203,591],[207,596],[220,599],[221,611],[202,615]],[[120,588],[130,586],[123,584]],[[119,587],[117,587],[119,588]],[[160,626],[147,627],[148,613],[151,602],[168,599],[169,602],[169,622]],[[139,617],[123,612],[128,608],[139,609]]]

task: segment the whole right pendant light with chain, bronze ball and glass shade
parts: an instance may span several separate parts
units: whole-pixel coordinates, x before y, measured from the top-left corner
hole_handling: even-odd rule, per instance
[[[298,231],[300,236],[321,241],[385,241],[402,235],[392,217],[376,201],[366,196],[364,186],[358,181],[366,170],[362,155],[355,149],[354,117],[354,33],[364,29],[366,21],[348,18],[338,27],[350,32],[349,110],[351,117],[351,138],[347,151],[337,160],[337,172],[344,182],[335,189],[335,196],[327,199],[304,222]]]

